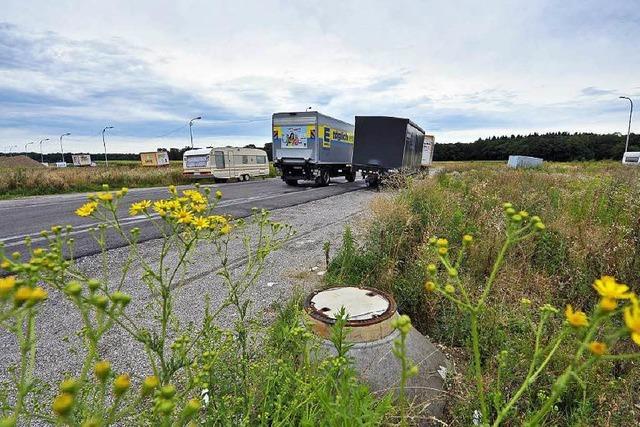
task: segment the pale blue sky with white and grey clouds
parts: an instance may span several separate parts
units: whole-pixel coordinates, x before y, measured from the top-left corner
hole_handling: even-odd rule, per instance
[[[308,107],[437,142],[626,133],[637,1],[3,0],[0,151],[269,142]],[[633,131],[632,126],[632,131]],[[14,148],[10,148],[14,147]]]

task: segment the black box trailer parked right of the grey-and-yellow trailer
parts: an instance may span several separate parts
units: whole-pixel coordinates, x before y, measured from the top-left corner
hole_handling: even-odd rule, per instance
[[[370,186],[390,174],[420,169],[425,132],[409,119],[356,116],[353,167]]]

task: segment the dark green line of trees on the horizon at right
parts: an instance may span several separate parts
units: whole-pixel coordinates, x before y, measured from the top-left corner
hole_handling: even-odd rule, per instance
[[[471,143],[437,144],[434,160],[507,160],[510,155],[541,157],[548,161],[621,160],[626,135],[569,133],[511,135],[480,138]],[[640,151],[640,135],[631,134],[629,151]]]

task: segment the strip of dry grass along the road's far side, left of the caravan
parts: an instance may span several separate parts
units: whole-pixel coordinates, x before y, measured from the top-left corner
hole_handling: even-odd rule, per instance
[[[133,161],[97,162],[98,167],[25,168],[0,165],[0,199],[98,191],[102,184],[112,188],[157,187],[189,184],[182,176],[182,162],[172,161],[168,167],[140,166]],[[273,167],[271,168],[273,169]],[[272,170],[275,176],[275,171]]]

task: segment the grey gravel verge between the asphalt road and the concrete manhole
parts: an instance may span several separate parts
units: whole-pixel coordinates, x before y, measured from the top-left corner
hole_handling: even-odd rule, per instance
[[[252,312],[262,322],[273,319],[275,308],[288,301],[296,292],[306,294],[321,285],[323,271],[323,242],[330,241],[332,251],[341,243],[345,224],[357,225],[367,215],[369,202],[376,197],[372,191],[356,191],[347,194],[278,209],[272,211],[272,218],[290,224],[297,235],[286,247],[272,253],[266,263],[264,273],[256,285],[248,291],[252,301]],[[148,241],[140,245],[145,257],[154,259],[159,251],[159,241]],[[244,255],[234,248],[230,259],[242,262]],[[118,271],[128,257],[127,248],[108,252],[109,265]],[[100,256],[89,256],[78,261],[78,267],[89,275],[101,277]],[[174,311],[180,324],[198,323],[205,309],[205,296],[208,296],[212,308],[219,306],[226,292],[220,278],[215,274],[217,266],[206,258],[198,259],[189,272],[183,286],[173,291]],[[151,295],[139,278],[139,266],[134,266],[131,279],[125,281],[123,291],[132,295],[127,313],[141,322],[153,324],[154,313],[148,309]],[[112,285],[118,280],[117,273],[110,277]],[[228,326],[233,315],[223,312],[219,323]],[[37,321],[38,353],[36,377],[45,383],[58,383],[65,375],[77,373],[83,350],[77,332],[80,319],[75,308],[65,298],[50,292]],[[0,380],[10,378],[8,368],[18,361],[18,348],[12,335],[0,331]],[[148,374],[147,357],[142,347],[117,327],[104,337],[101,348],[102,357],[109,359],[116,371],[126,371],[134,376]]]

